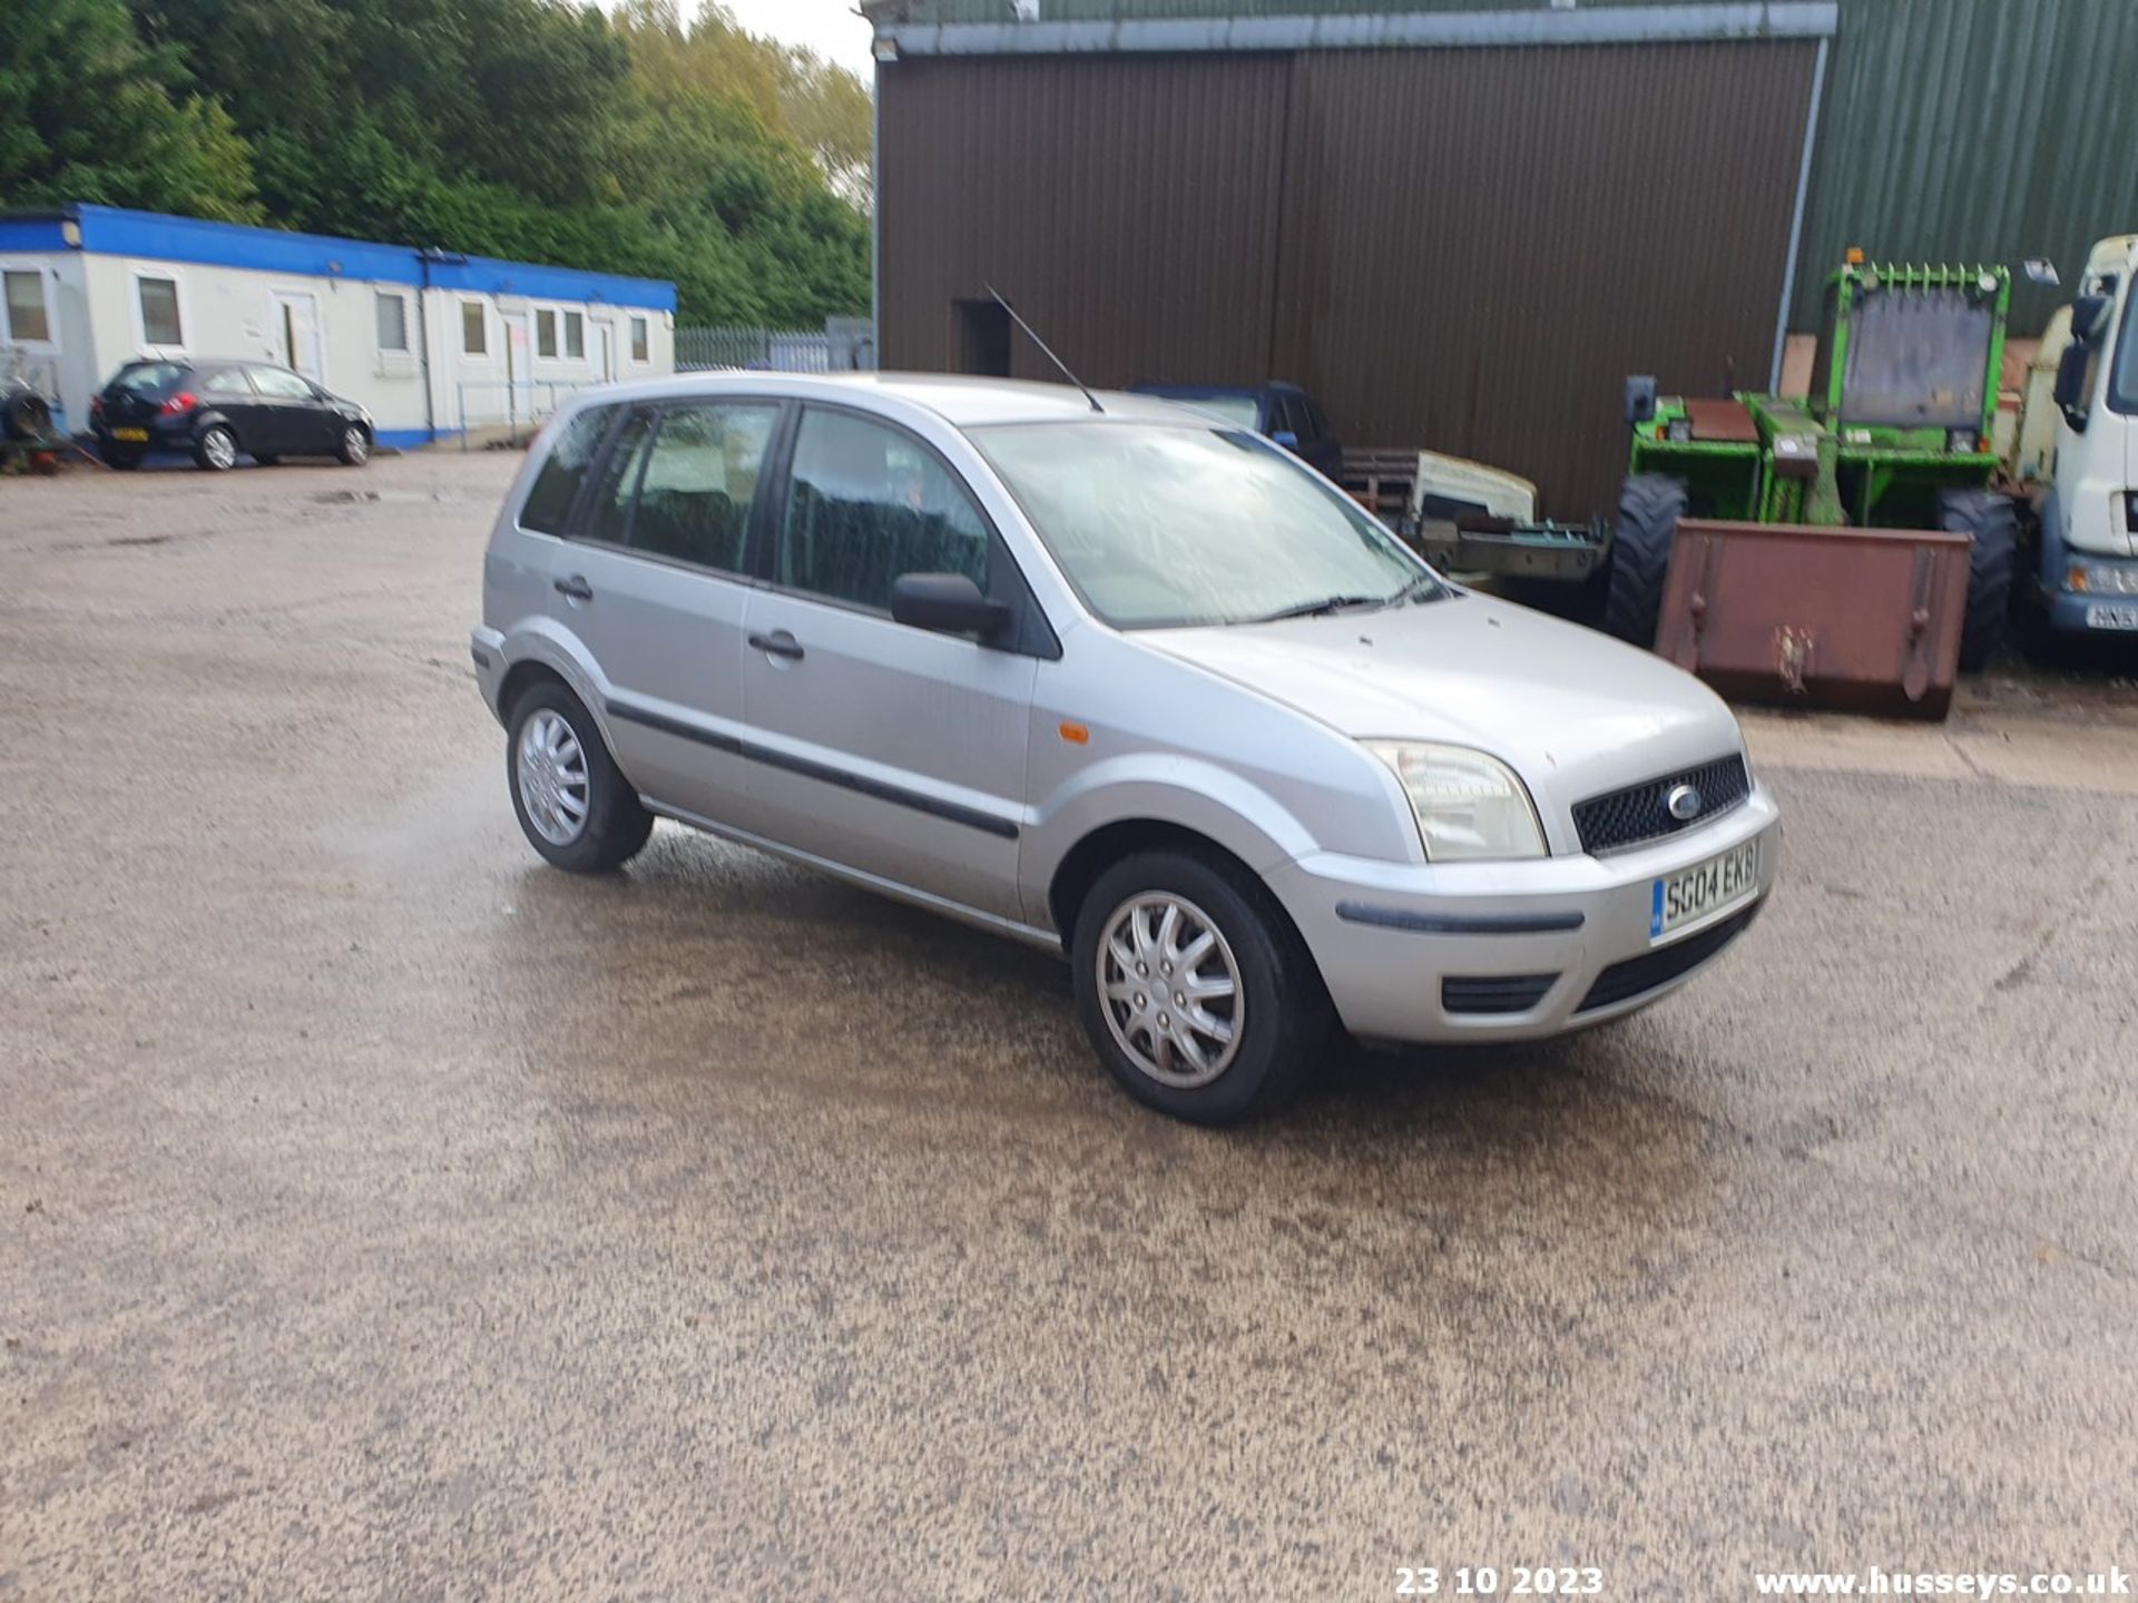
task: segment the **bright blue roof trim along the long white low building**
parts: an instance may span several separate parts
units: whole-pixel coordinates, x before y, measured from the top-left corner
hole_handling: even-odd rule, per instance
[[[351,278],[378,284],[421,284],[423,263],[415,246],[374,239],[336,239],[323,233],[254,229],[244,222],[210,222],[160,212],[130,212],[115,205],[79,205],[81,248],[103,256],[145,256],[203,267],[250,267],[261,274],[304,278]],[[43,229],[49,244],[15,246],[17,229]],[[45,237],[45,233],[36,235]],[[0,244],[15,250],[60,250],[60,224],[43,218],[0,222]],[[648,312],[673,312],[676,286],[656,278],[590,274],[575,267],[541,267],[492,256],[434,256],[430,284],[475,295],[528,295],[539,301],[597,301]]]

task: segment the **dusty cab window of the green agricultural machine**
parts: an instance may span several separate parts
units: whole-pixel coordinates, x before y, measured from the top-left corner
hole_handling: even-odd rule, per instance
[[[1841,421],[1982,427],[1995,308],[1965,289],[1869,291],[1849,312]]]

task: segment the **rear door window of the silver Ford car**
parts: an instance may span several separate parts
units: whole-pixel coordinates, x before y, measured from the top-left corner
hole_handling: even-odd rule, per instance
[[[701,402],[663,413],[639,483],[631,547],[740,573],[757,474],[778,421],[778,406],[740,402]]]

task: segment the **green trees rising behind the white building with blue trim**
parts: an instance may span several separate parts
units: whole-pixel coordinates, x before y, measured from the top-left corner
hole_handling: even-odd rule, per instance
[[[868,122],[851,73],[673,0],[0,0],[15,203],[669,278],[691,321],[868,306]]]

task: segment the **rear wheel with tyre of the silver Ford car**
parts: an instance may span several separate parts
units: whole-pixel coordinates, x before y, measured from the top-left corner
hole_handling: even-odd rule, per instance
[[[579,697],[543,680],[513,703],[505,729],[505,787],[534,851],[573,874],[609,874],[637,855],[654,816]]]

